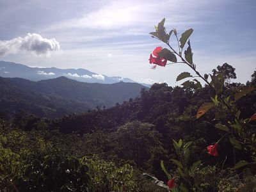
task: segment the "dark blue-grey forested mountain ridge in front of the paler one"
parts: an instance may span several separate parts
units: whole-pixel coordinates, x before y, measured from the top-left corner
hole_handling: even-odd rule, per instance
[[[19,110],[41,117],[60,117],[115,106],[140,95],[138,83],[83,83],[58,77],[41,81],[0,77],[0,113],[13,117]],[[147,89],[147,88],[146,88]]]

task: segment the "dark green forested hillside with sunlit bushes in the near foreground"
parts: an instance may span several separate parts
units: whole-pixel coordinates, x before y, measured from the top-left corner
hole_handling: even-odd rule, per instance
[[[247,85],[255,83],[254,72]],[[241,84],[226,83],[224,93],[236,92],[238,86]],[[209,86],[154,84],[150,90],[141,90],[140,99],[109,109],[54,120],[33,115],[16,116],[9,122],[2,119],[1,191],[47,191],[52,179],[58,184],[56,189],[64,191],[164,191],[142,173],[167,181],[161,170],[163,160],[172,174],[179,175],[170,159],[178,157],[172,140],[180,139],[184,143],[192,141],[189,164],[204,162],[191,175],[200,183],[198,191],[240,189],[246,183],[239,177],[244,172],[229,167],[239,160],[250,161],[250,154],[234,152],[228,138],[224,138],[218,148],[220,163],[216,163],[206,147],[224,135],[214,127],[221,121],[218,113],[210,110],[202,118],[195,118],[197,109],[212,95]],[[241,115],[252,116],[255,103],[256,92],[237,101]],[[255,122],[251,124],[255,130]],[[256,170],[255,164],[251,164],[251,170]],[[177,176],[176,182],[179,180]]]

